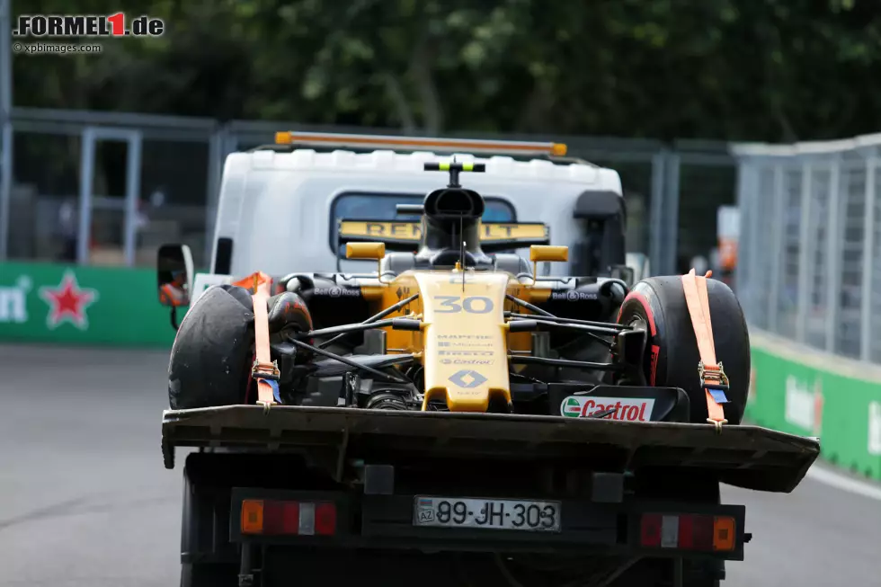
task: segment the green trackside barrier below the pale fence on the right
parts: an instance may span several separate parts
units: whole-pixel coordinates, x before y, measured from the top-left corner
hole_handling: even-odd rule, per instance
[[[881,479],[881,368],[750,331],[746,418],[820,438],[821,457]]]

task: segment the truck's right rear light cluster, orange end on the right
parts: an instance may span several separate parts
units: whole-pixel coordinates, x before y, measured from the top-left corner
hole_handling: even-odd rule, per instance
[[[737,522],[730,516],[644,513],[639,543],[648,548],[732,551],[736,529]]]

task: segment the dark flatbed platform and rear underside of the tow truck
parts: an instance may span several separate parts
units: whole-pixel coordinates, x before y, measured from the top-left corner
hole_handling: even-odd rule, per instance
[[[643,569],[646,583],[634,585],[718,584],[724,576],[712,563],[742,561],[752,538],[743,505],[711,499],[718,483],[788,493],[817,454],[814,439],[747,425],[718,434],[708,424],[305,406],[277,406],[264,414],[263,407],[252,405],[166,411],[165,467],[174,467],[175,447],[200,449],[189,455],[185,469],[183,565],[211,574],[215,565],[221,570],[221,561],[228,566],[238,560],[240,585],[254,584],[258,568],[271,570],[263,584],[286,576],[304,585],[313,584],[308,576],[342,581],[360,574],[346,561],[381,565],[396,560],[389,553],[413,547],[546,554],[571,559],[572,573],[586,567],[597,581],[614,580],[645,557],[654,559],[654,567],[670,563],[663,575],[667,583],[651,583],[659,576],[654,568]],[[304,453],[317,469],[305,466],[299,456]],[[632,470],[642,478],[628,474]],[[447,499],[445,515],[455,522],[485,503],[475,507],[444,496],[486,494],[497,499],[476,520],[477,528],[437,528],[414,520],[422,500]],[[517,506],[523,502],[517,498],[524,494],[553,496],[558,517],[541,518],[529,503],[523,525],[532,531],[518,531],[514,526],[523,508]],[[435,515],[440,518],[442,510]],[[480,521],[498,529],[480,528]],[[311,558],[313,547],[330,548],[334,555],[330,561]],[[352,556],[364,549],[375,558]],[[281,560],[258,563],[273,554]],[[334,558],[343,567],[336,567]],[[692,570],[700,569],[698,577],[684,573],[686,559]],[[449,577],[429,581],[425,574],[442,574],[432,556],[405,557],[390,566],[409,568],[405,562],[413,568],[400,584],[415,577],[421,584],[459,584]],[[466,557],[457,564],[479,577],[478,562],[479,556]],[[606,565],[598,570],[600,563]],[[304,566],[310,575],[303,574]],[[376,581],[370,584],[396,585],[400,579]]]

